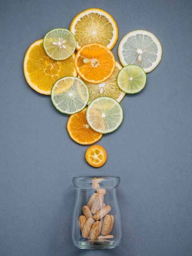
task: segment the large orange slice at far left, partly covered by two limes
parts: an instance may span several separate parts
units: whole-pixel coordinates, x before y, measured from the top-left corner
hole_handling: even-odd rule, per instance
[[[54,83],[63,76],[77,76],[74,66],[75,54],[64,61],[47,56],[43,39],[34,42],[27,50],[23,63],[24,75],[33,90],[50,95]]]

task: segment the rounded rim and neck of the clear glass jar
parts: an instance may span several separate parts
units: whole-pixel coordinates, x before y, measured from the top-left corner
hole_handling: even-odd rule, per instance
[[[72,182],[78,189],[116,188],[120,183],[117,176],[79,176],[73,177]]]

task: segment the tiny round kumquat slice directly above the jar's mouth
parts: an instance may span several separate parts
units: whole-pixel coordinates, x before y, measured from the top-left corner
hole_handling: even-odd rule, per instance
[[[105,164],[107,160],[107,153],[102,146],[93,145],[87,149],[85,159],[91,166],[100,167]]]

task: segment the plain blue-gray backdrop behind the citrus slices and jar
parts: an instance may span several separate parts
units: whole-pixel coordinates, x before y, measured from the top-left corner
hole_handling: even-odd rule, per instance
[[[103,136],[108,158],[93,168],[88,146],[69,137],[68,116],[23,75],[28,47],[56,27],[69,28],[96,7],[116,20],[120,40],[145,29],[162,60],[143,91],[126,95],[124,121]],[[0,1],[0,256],[192,255],[192,1]],[[119,175],[123,239],[115,249],[71,243],[72,177]]]

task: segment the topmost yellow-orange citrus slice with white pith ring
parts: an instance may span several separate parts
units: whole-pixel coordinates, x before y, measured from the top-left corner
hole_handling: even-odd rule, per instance
[[[76,50],[88,43],[101,43],[112,49],[118,39],[114,18],[106,11],[96,8],[80,12],[72,20],[69,30],[76,38]]]

